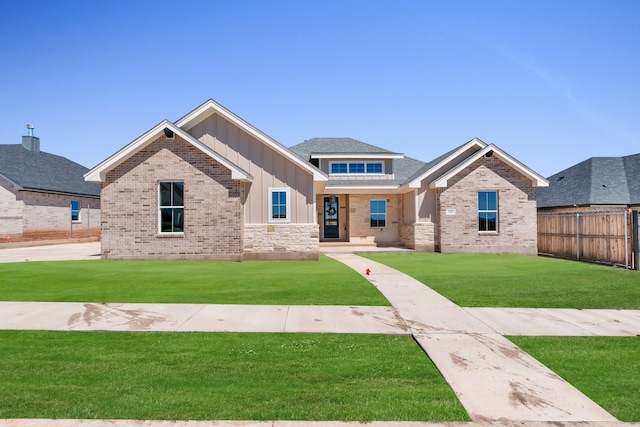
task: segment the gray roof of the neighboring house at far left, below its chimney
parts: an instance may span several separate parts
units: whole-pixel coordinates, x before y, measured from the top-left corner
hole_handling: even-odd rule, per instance
[[[88,171],[65,157],[0,144],[0,175],[25,190],[99,197],[100,185],[84,180]]]

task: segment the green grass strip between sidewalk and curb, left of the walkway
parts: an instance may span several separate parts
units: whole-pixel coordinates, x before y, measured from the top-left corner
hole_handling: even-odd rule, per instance
[[[468,416],[410,337],[0,331],[0,418]]]

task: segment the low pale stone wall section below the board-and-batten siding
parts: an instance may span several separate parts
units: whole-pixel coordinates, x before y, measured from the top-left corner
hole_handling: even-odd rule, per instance
[[[318,260],[318,224],[245,224],[244,259]]]

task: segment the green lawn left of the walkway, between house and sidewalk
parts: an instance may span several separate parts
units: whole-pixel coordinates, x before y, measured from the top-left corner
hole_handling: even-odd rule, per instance
[[[358,273],[320,261],[54,261],[2,264],[4,301],[379,305]]]

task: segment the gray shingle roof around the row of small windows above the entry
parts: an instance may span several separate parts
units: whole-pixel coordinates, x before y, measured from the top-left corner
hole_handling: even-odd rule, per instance
[[[362,141],[358,141],[353,138],[313,138],[301,142],[298,145],[294,145],[290,148],[291,151],[302,157],[306,161],[310,160],[311,154],[389,154],[397,155],[399,153],[388,151],[380,147],[376,147],[371,144],[367,144]],[[421,170],[425,165],[420,160],[413,159],[411,157],[402,157],[400,159],[393,159],[393,174],[394,179],[379,179],[379,180],[335,180],[329,179],[330,185],[402,185]]]

